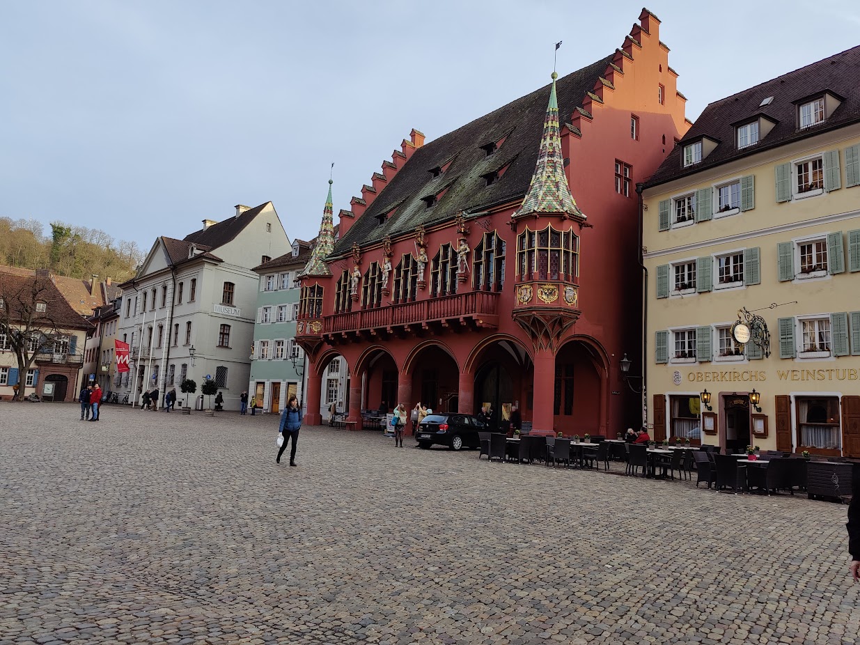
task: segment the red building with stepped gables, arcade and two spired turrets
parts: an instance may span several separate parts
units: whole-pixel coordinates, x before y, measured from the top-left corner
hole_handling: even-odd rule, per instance
[[[533,433],[616,433],[641,412],[618,361],[640,347],[638,200],[683,136],[685,98],[642,11],[611,56],[424,144],[413,131],[302,277],[297,341],[350,368],[364,408],[519,406]],[[330,192],[329,192],[330,196]]]

